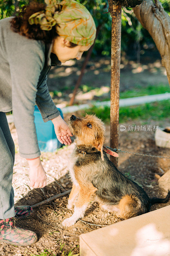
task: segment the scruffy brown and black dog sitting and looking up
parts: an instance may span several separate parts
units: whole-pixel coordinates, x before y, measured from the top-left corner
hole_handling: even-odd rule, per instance
[[[165,199],[150,199],[143,188],[126,178],[108,159],[102,150],[105,126],[99,118],[72,115],[70,130],[76,136],[76,147],[71,156],[73,187],[68,209],[75,207],[73,215],[63,221],[63,226],[69,227],[83,218],[91,201],[99,202],[105,210],[117,212],[123,219],[149,212],[152,204],[168,202],[169,191]]]

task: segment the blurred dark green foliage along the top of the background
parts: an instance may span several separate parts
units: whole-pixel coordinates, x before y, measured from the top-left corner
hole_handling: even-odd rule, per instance
[[[30,0],[0,0],[0,19],[10,17],[16,10],[27,5]],[[38,0],[43,2],[43,0]],[[108,11],[107,0],[77,0],[91,12],[96,27],[100,26],[100,33],[96,40],[93,54],[110,55],[111,49],[111,17]],[[164,9],[170,14],[170,0],[160,0]],[[122,8],[122,51],[127,54],[129,51],[140,51],[144,49],[154,49],[155,44],[138,20],[135,18],[131,8]]]

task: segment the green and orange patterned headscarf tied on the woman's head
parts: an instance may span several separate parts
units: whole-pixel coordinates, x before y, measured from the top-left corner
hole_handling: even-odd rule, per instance
[[[78,45],[92,45],[96,26],[90,12],[74,0],[45,0],[45,11],[33,13],[29,23],[40,24],[42,30],[56,27],[57,34]]]

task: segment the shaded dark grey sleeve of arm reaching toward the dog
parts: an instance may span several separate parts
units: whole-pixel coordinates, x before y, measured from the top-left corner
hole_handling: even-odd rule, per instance
[[[56,108],[49,94],[47,87],[47,76],[37,89],[35,102],[40,110],[44,122],[47,122],[60,115],[59,110]]]

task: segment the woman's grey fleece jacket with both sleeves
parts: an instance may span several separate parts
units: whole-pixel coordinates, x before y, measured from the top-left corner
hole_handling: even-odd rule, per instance
[[[44,122],[60,115],[48,91],[47,73],[61,62],[51,54],[52,44],[14,33],[11,19],[0,20],[0,111],[13,112],[20,156],[36,158],[41,153],[34,106],[37,104]]]

